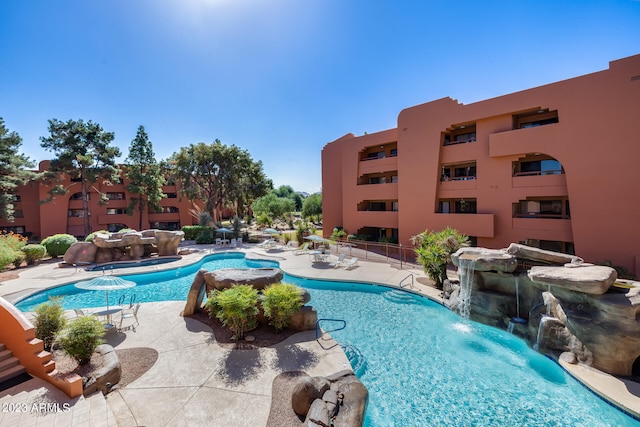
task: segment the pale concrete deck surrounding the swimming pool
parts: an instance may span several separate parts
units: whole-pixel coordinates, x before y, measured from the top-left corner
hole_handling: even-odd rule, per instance
[[[198,252],[169,264],[127,268],[126,274],[172,269],[191,264],[220,248],[197,247]],[[350,270],[312,263],[308,255],[293,251],[264,251],[254,245],[234,248],[248,256],[272,259],[291,275],[308,278],[381,283],[398,286],[410,274],[411,289],[440,301],[440,292],[426,283],[424,272],[416,268],[398,269],[381,262],[358,261]],[[355,255],[355,253],[354,253]],[[335,259],[335,254],[333,256]],[[124,273],[123,270],[116,270]],[[9,301],[25,293],[101,275],[83,269],[58,268],[57,264],[25,269],[18,279],[0,284],[0,295]],[[420,279],[419,281],[417,279]],[[408,284],[410,280],[404,280]],[[423,283],[421,283],[423,282]],[[313,305],[313,301],[311,301]],[[304,370],[310,375],[327,375],[349,367],[339,346],[327,351],[312,331],[296,334],[269,348],[230,351],[219,346],[208,326],[179,313],[184,301],[143,303],[136,332],[111,334],[116,349],[149,347],[158,351],[158,360],[140,378],[103,398],[69,399],[39,379],[32,379],[0,392],[0,404],[20,408],[31,402],[68,403],[69,411],[0,412],[0,425],[266,425],[271,404],[272,381],[280,372]],[[326,347],[326,345],[325,345]],[[588,367],[562,366],[601,396],[615,399],[627,412],[640,414],[640,384],[621,380]],[[247,407],[251,411],[246,411]],[[55,407],[54,407],[55,408]],[[51,407],[49,407],[51,409]]]

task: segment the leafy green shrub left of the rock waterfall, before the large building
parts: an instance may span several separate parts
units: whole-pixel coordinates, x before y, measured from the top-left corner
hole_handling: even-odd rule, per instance
[[[425,230],[411,240],[417,246],[415,252],[418,263],[440,289],[447,279],[447,264],[451,262],[451,254],[463,246],[469,246],[469,238],[450,227],[441,231]]]

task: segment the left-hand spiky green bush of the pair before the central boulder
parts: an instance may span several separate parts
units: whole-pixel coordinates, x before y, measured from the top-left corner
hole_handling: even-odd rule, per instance
[[[258,291],[249,285],[236,285],[223,291],[211,291],[207,302],[209,316],[216,316],[237,338],[256,326]]]

